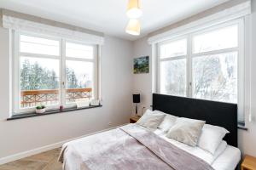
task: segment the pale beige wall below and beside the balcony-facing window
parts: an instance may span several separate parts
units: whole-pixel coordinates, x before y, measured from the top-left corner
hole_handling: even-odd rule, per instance
[[[129,122],[131,51],[131,42],[105,38],[102,47],[102,108],[6,121],[9,116],[9,31],[0,27],[0,161],[6,156]],[[108,122],[112,122],[111,126]]]

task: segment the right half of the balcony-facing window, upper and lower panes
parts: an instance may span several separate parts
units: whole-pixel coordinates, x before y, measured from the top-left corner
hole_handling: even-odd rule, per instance
[[[95,93],[93,46],[66,42],[66,103],[81,103]]]

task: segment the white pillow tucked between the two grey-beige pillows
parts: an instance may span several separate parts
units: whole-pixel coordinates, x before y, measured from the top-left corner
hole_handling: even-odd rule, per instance
[[[164,113],[164,112],[154,111],[154,113]],[[168,132],[170,128],[175,124],[176,120],[177,120],[177,116],[166,114],[164,121],[160,123],[158,128],[160,128],[163,132]]]

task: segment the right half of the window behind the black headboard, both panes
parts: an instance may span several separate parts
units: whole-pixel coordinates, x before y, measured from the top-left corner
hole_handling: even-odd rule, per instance
[[[192,36],[192,97],[237,103],[238,24]]]

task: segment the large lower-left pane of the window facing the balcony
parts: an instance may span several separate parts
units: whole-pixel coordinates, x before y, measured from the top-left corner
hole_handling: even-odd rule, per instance
[[[59,59],[20,57],[20,108],[59,104]]]

